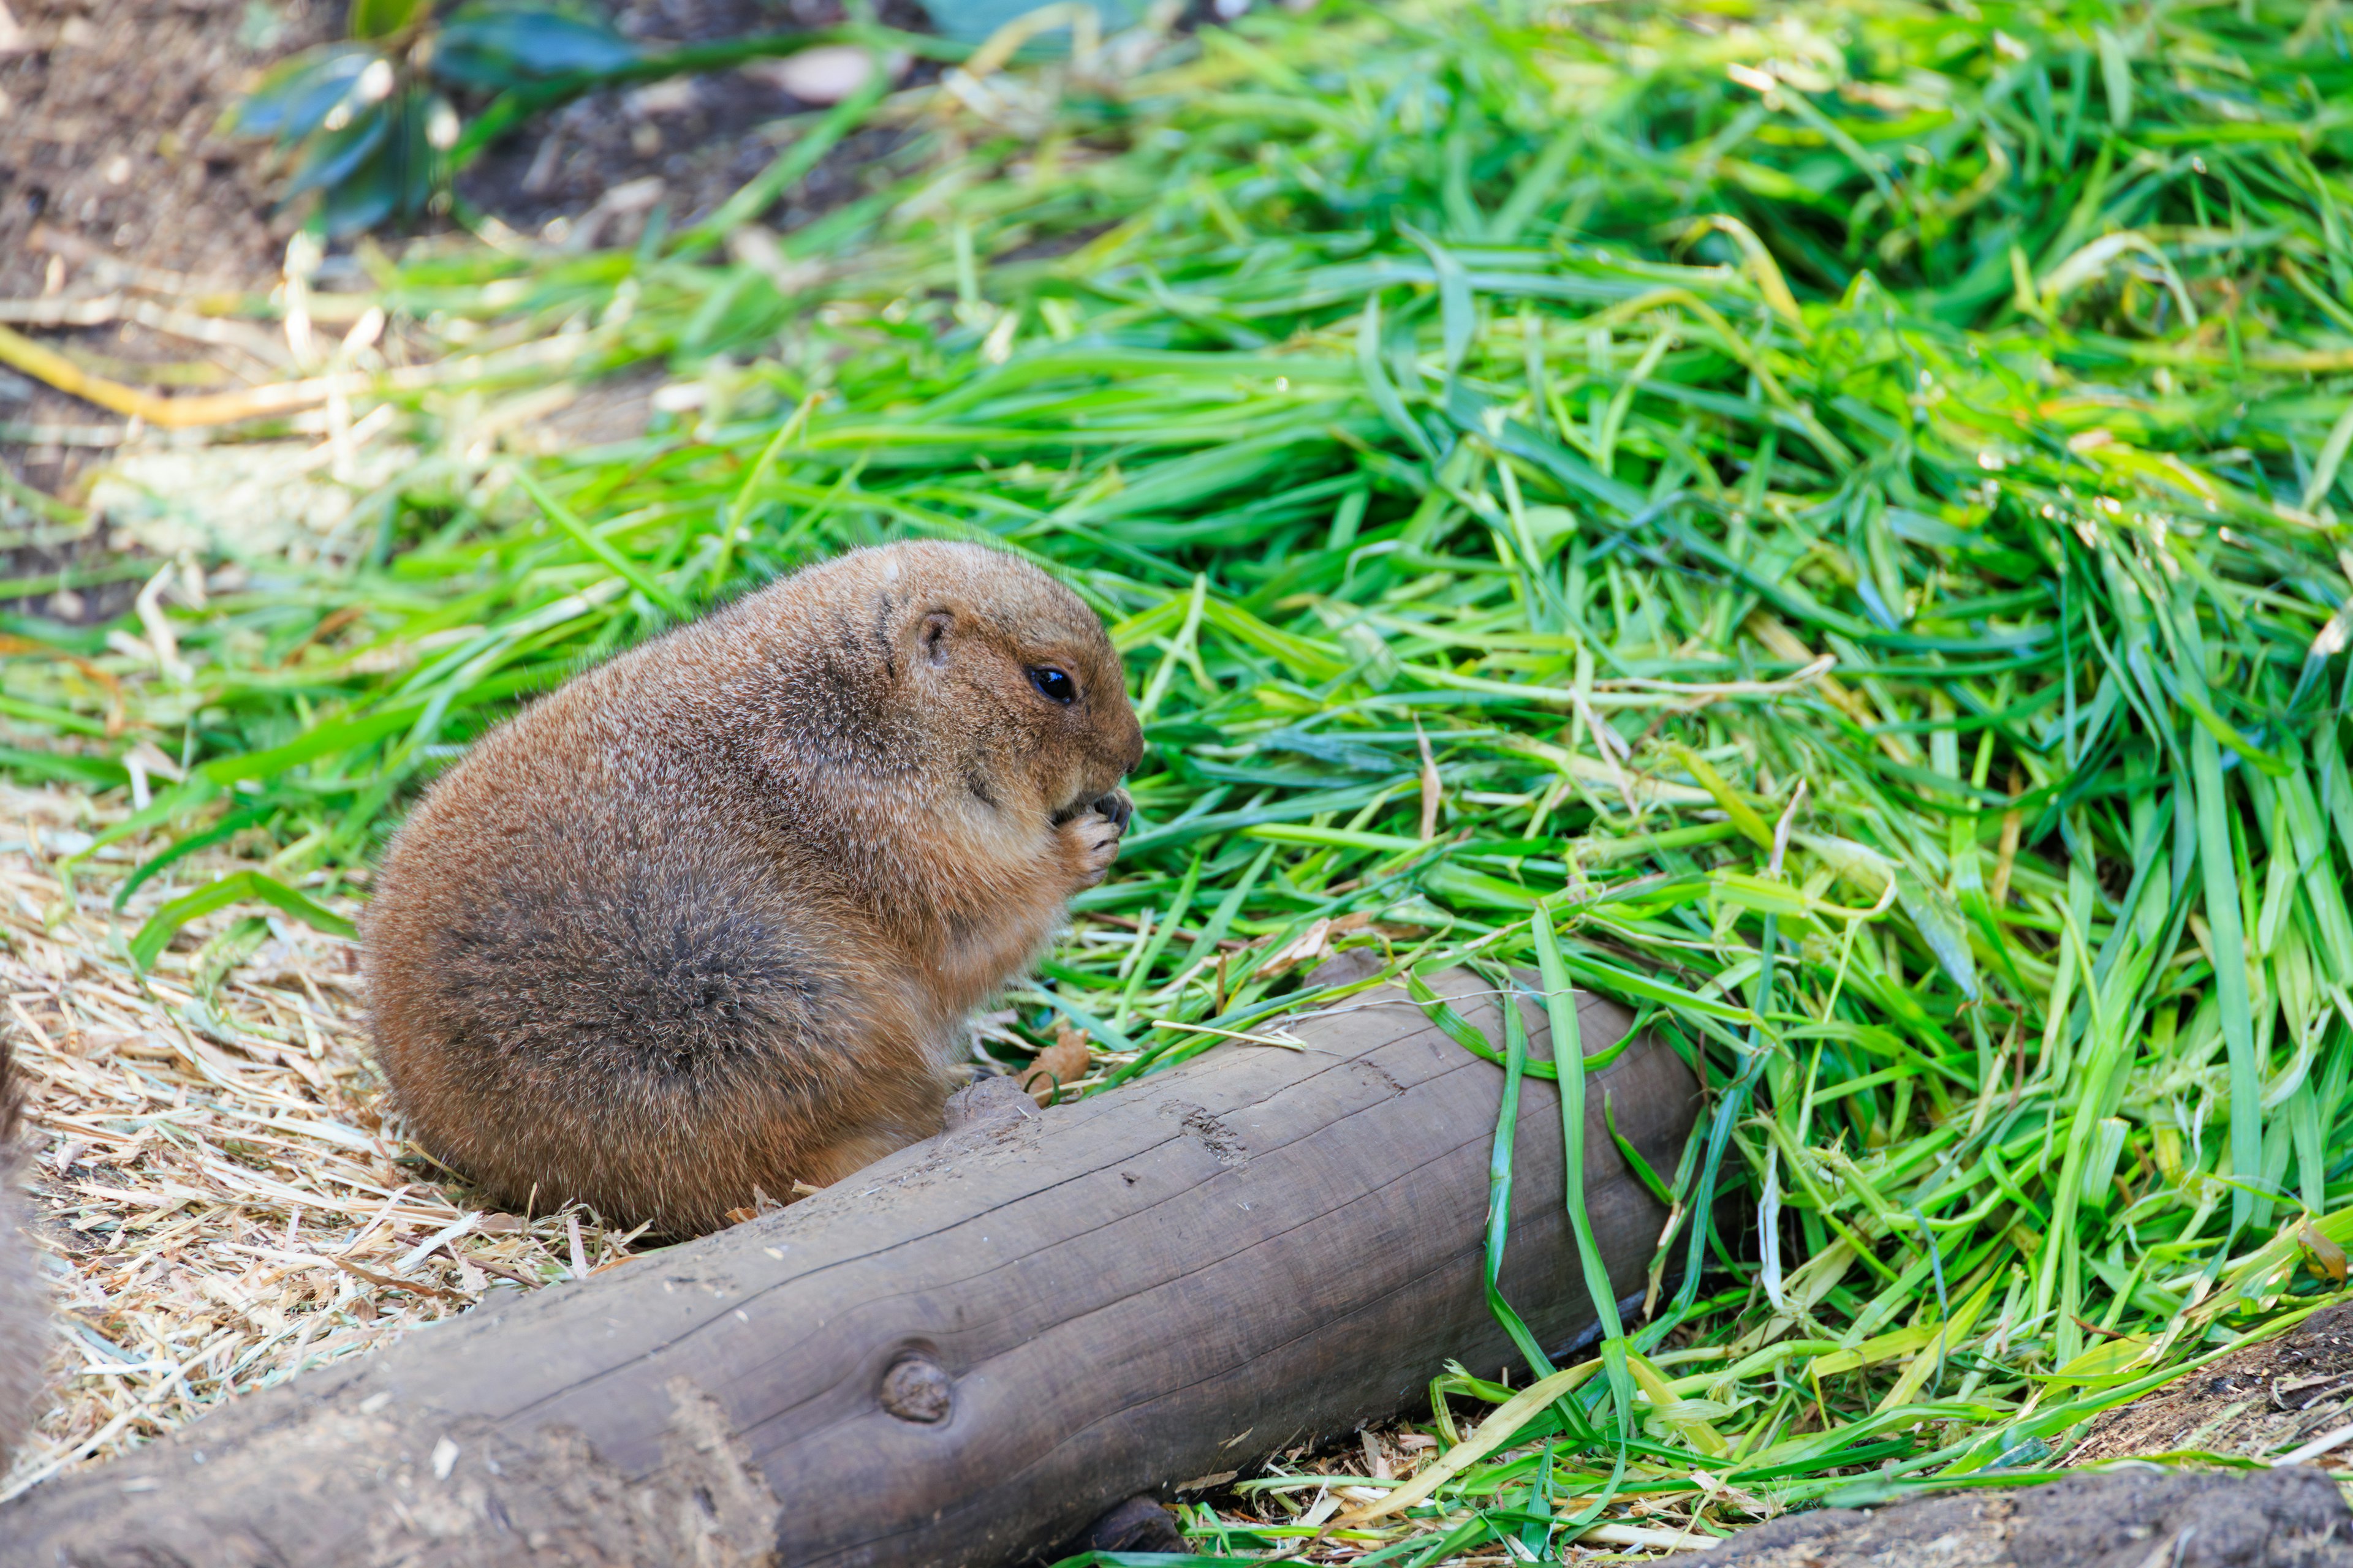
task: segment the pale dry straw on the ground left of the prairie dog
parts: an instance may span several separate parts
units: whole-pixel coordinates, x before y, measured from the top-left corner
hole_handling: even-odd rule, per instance
[[[252,863],[188,856],[115,912],[120,872],[160,844],[71,858],[127,811],[0,785],[0,1013],[59,1298],[52,1403],[0,1500],[638,1239],[584,1211],[482,1211],[407,1143],[367,1060],[355,943],[228,910],[141,976],[125,943],[146,914]]]

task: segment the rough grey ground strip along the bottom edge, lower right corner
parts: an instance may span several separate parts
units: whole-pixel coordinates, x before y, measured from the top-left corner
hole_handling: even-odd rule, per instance
[[[2318,1469],[2075,1474],[1885,1509],[1788,1514],[1727,1540],[1739,1568],[2353,1568],[2353,1512]]]

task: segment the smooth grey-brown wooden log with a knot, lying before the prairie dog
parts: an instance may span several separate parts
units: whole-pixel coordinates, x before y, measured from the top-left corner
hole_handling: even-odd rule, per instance
[[[1440,992],[1501,1041],[1482,985]],[[1419,1408],[1449,1356],[1513,1363],[1480,1286],[1504,1074],[1400,992],[1351,1006],[240,1399],[0,1509],[0,1563],[986,1568]],[[1631,1027],[1579,1009],[1588,1053]],[[1664,1211],[1605,1098],[1671,1168],[1697,1086],[1647,1039],[1591,1074],[1586,1201],[1633,1295]],[[1532,1079],[1504,1288],[1551,1347],[1593,1324],[1560,1178]]]

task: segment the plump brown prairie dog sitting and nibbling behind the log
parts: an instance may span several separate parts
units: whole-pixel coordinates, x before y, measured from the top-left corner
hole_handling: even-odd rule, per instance
[[[494,1201],[696,1234],[929,1138],[965,1016],[1101,882],[1144,755],[1078,595],[809,567],[482,736],[365,917],[376,1058]]]

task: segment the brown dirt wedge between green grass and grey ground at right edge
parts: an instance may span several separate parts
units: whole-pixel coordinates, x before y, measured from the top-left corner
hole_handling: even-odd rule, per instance
[[[2353,1305],[2108,1410],[2068,1465],[2186,1448],[2264,1458],[2353,1422]]]

